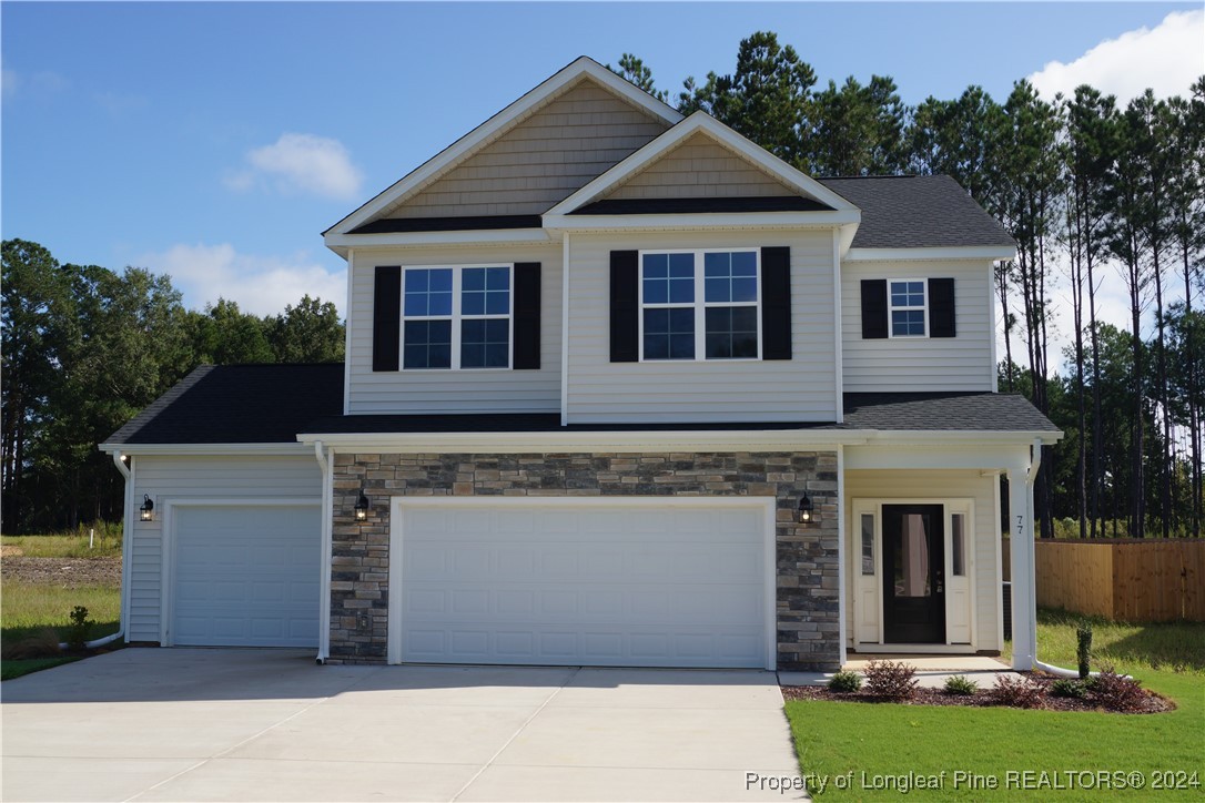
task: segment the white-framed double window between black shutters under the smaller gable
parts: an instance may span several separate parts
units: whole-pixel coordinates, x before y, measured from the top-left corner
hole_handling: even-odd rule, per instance
[[[641,359],[760,358],[757,250],[643,252]]]

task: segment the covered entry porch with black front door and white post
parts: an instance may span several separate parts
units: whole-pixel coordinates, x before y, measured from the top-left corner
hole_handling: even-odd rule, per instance
[[[1033,668],[1033,477],[1042,439],[1022,441],[1016,433],[912,435],[890,433],[887,443],[845,450],[847,660],[999,656],[1000,541],[1007,512],[1015,544],[1012,666]],[[1007,480],[1003,490],[1001,478]]]

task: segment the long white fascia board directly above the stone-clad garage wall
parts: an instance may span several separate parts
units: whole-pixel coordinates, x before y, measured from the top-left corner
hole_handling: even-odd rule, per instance
[[[683,451],[835,449],[865,443],[865,432],[852,430],[723,430],[723,431],[596,431],[596,432],[305,432],[304,444],[322,441],[339,451],[504,453],[542,451]],[[312,448],[312,445],[311,445]]]

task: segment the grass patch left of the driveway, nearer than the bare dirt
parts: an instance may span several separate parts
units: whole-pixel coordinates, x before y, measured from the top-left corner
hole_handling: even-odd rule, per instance
[[[95,622],[90,638],[116,633],[119,626],[122,594],[118,585],[63,589],[53,585],[6,581],[0,588],[0,644],[4,648],[28,639],[47,627],[58,632],[60,642],[67,639],[70,614],[76,606],[88,609]],[[19,678],[77,659],[47,656],[5,660],[0,662],[0,680]]]

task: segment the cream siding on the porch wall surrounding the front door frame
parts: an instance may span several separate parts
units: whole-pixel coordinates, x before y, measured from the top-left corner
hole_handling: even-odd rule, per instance
[[[935,500],[948,498],[972,498],[975,501],[975,521],[968,522],[969,529],[974,529],[974,539],[968,539],[968,562],[974,563],[975,600],[974,600],[974,648],[976,650],[999,650],[1001,645],[997,640],[997,622],[999,612],[997,606],[1000,590],[1000,566],[997,560],[1000,542],[999,514],[995,509],[994,484],[997,477],[981,477],[978,471],[951,471],[951,470],[857,470],[845,473],[845,502],[842,509],[850,516],[853,510],[853,500],[872,498],[895,502],[906,502],[912,498]],[[846,572],[853,572],[851,578],[857,579],[860,573],[860,522],[854,519],[846,521],[846,538],[848,539],[847,554],[853,557],[850,565],[844,567]],[[875,549],[880,549],[875,544]],[[877,580],[876,580],[877,581]],[[857,621],[854,620],[853,594],[857,583],[846,585],[847,598],[845,601],[846,632],[853,638],[857,633]]]

